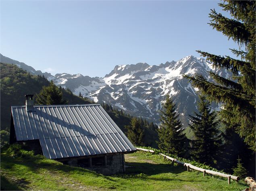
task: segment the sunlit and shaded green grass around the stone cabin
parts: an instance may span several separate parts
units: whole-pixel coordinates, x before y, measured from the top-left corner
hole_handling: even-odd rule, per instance
[[[187,172],[163,157],[138,151],[125,155],[125,174],[104,176],[25,152],[1,153],[1,190],[243,190],[246,184]]]

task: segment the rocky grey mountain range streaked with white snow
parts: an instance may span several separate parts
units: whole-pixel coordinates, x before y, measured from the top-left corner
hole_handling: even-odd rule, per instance
[[[2,55],[1,62],[4,62]],[[14,64],[23,68],[19,62]],[[207,71],[214,71],[223,77],[231,76],[230,72],[214,69],[210,62],[191,55],[179,61],[160,65],[150,66],[147,63],[117,65],[104,78],[67,73],[55,76],[48,73],[44,75],[56,85],[69,88],[76,95],[81,92],[84,97],[91,98],[95,102],[111,104],[133,116],[142,116],[156,123],[159,123],[159,110],[165,95],[169,94],[176,103],[181,120],[187,123],[187,116],[197,111],[198,95],[197,89],[192,87],[182,75],[198,73],[210,78]],[[35,70],[30,73],[35,73]],[[212,107],[219,108],[217,105]]]

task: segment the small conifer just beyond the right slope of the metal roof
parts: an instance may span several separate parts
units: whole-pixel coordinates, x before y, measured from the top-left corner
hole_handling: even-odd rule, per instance
[[[133,117],[127,128],[127,137],[135,145],[143,145],[144,129],[141,126],[140,120]]]

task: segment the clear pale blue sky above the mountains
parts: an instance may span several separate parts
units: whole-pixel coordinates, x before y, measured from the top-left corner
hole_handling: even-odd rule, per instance
[[[232,55],[213,30],[219,1],[1,1],[1,49],[37,70],[104,77],[115,65],[158,65],[196,50]],[[228,14],[227,14],[228,15]]]

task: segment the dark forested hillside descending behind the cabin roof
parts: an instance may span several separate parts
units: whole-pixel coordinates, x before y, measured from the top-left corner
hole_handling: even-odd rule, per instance
[[[50,82],[46,77],[41,75],[31,75],[27,71],[20,69],[16,65],[12,64],[0,64],[1,68],[1,98],[0,98],[0,109],[1,109],[1,143],[8,142],[8,132],[10,128],[10,106],[24,105],[25,94],[37,94],[41,91],[43,86],[47,86]],[[61,88],[61,87],[60,87]],[[67,104],[91,104],[92,101],[76,96],[69,89],[62,90],[62,97]],[[102,104],[103,108],[108,112],[110,117],[116,122],[123,132],[126,133],[127,129],[125,126],[129,126],[131,122],[131,116],[123,113],[117,109]],[[140,119],[141,124],[145,128],[144,144],[146,146],[156,147],[155,140],[158,139],[156,128],[152,123],[146,120]],[[4,131],[3,131],[4,130]],[[6,132],[7,131],[7,132]]]

